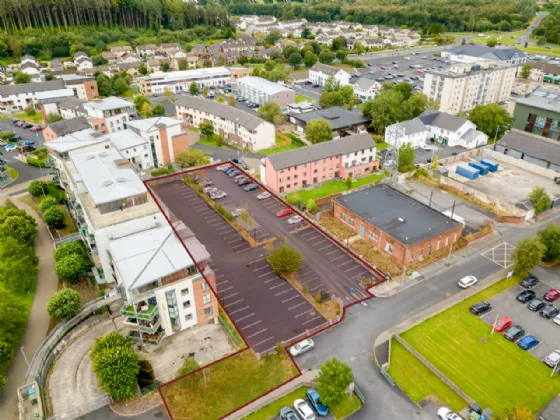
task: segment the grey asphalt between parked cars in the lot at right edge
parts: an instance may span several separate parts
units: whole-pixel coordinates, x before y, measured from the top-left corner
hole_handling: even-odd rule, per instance
[[[550,289],[550,285],[541,281],[532,290],[537,294],[537,298],[542,298],[542,295]],[[560,325],[555,324],[552,319],[541,317],[538,312],[529,310],[527,303],[517,301],[516,296],[523,290],[525,289],[516,285],[497,295],[489,301],[492,304],[492,310],[481,318],[491,326],[496,320],[496,316],[510,317],[514,324],[519,324],[525,329],[525,335],[534,335],[540,340],[540,343],[529,351],[537,359],[542,360],[552,351],[560,350]],[[558,306],[560,300],[553,304]],[[495,332],[494,334],[502,333]],[[512,345],[515,344],[512,343]]]

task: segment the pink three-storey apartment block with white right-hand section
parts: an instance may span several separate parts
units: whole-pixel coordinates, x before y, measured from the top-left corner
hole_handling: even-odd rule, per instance
[[[333,179],[360,178],[379,169],[376,144],[356,134],[261,159],[261,182],[277,194]]]

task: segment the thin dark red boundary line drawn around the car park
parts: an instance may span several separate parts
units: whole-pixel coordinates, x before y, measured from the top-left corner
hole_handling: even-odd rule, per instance
[[[173,232],[175,233],[175,235],[177,236],[177,238],[180,238],[180,236],[179,236],[179,234],[177,233],[177,231],[175,230],[175,227],[171,224],[171,221],[170,221],[169,218],[167,217],[167,214],[165,214],[165,211],[164,211],[163,208],[161,207],[161,205],[160,205],[159,201],[157,200],[156,196],[155,196],[154,193],[152,192],[152,190],[151,190],[151,188],[150,188],[150,183],[151,183],[151,182],[154,182],[154,181],[164,180],[164,179],[167,179],[167,178],[177,178],[177,180],[179,180],[179,179],[181,179],[181,177],[182,177],[183,175],[188,175],[188,174],[190,174],[190,173],[192,173],[192,172],[199,172],[199,171],[202,171],[202,170],[205,170],[205,169],[214,168],[214,167],[216,167],[216,166],[220,166],[220,165],[224,165],[224,164],[230,164],[230,165],[232,165],[232,166],[235,166],[238,170],[243,171],[243,169],[240,168],[238,165],[236,165],[234,162],[232,162],[232,161],[226,161],[226,162],[217,162],[217,163],[213,163],[213,164],[206,165],[206,166],[203,166],[203,167],[197,167],[197,168],[193,168],[193,169],[187,169],[187,170],[182,171],[182,172],[178,172],[178,173],[174,173],[174,174],[168,174],[168,175],[163,175],[163,176],[160,176],[160,177],[157,177],[157,178],[152,178],[152,179],[144,180],[144,181],[143,181],[144,185],[145,185],[146,188],[148,189],[148,192],[150,193],[150,195],[151,195],[152,198],[154,199],[154,201],[155,201],[156,205],[158,206],[158,208],[160,209],[160,211],[163,213],[163,216],[164,216],[165,219],[167,220],[167,223],[169,223],[169,225],[171,226],[171,229],[173,230]],[[243,172],[245,172],[245,171],[243,171]],[[319,233],[321,233],[323,236],[327,237],[327,239],[329,239],[329,240],[330,240],[331,242],[333,242],[336,246],[338,246],[339,249],[342,249],[342,251],[347,252],[348,254],[352,255],[352,256],[354,257],[354,259],[356,259],[358,262],[360,262],[361,264],[363,264],[366,268],[368,268],[369,270],[373,271],[374,273],[377,273],[377,275],[378,275],[381,279],[380,279],[378,282],[376,282],[375,284],[373,284],[371,287],[377,286],[378,284],[381,284],[381,283],[387,281],[387,277],[386,277],[383,273],[381,273],[381,271],[379,271],[377,268],[374,268],[374,267],[373,267],[370,263],[368,263],[367,261],[364,261],[364,260],[363,260],[361,257],[359,257],[354,251],[350,250],[349,248],[347,248],[347,249],[343,248],[343,247],[340,245],[339,241],[338,241],[336,238],[332,237],[330,234],[328,234],[328,233],[322,231],[321,229],[319,229],[319,228],[315,225],[315,223],[310,222],[310,221],[308,220],[308,218],[307,218],[305,215],[303,215],[298,209],[294,208],[292,205],[290,205],[289,203],[287,203],[285,200],[283,200],[281,197],[279,197],[278,195],[276,195],[273,191],[269,190],[266,186],[264,186],[263,184],[261,184],[257,179],[253,178],[253,177],[252,177],[251,175],[249,175],[248,173],[245,172],[245,175],[246,175],[248,178],[250,178],[255,184],[258,184],[263,190],[265,190],[265,191],[267,191],[268,193],[270,193],[274,198],[276,198],[277,200],[279,200],[281,203],[284,203],[284,204],[286,205],[286,207],[289,207],[289,208],[292,210],[292,212],[295,212],[295,213],[298,214],[299,216],[303,217],[303,218],[307,221],[307,223],[308,223],[309,225],[311,225],[317,232],[319,232]],[[180,239],[179,239],[179,240],[180,240]],[[214,290],[214,288],[212,287],[212,285],[208,282],[208,279],[207,279],[206,276],[204,275],[204,272],[203,272],[202,270],[200,270],[200,267],[198,266],[198,263],[197,263],[197,262],[195,261],[195,259],[193,258],[192,254],[191,254],[190,251],[188,250],[187,246],[183,243],[183,241],[180,241],[180,242],[181,242],[181,244],[183,245],[183,248],[185,249],[185,251],[187,251],[187,254],[189,254],[189,257],[191,258],[191,260],[194,262],[195,267],[197,268],[197,270],[200,272],[200,274],[202,275],[202,277],[204,278],[204,280],[206,280],[206,283],[207,283],[208,286],[210,287],[210,290],[212,291],[212,294],[214,295],[214,297],[216,298],[216,300],[220,303],[220,306],[222,306],[222,309],[224,310],[224,312],[226,313],[226,315],[228,316],[228,318],[230,319],[230,321],[232,322],[232,324],[236,327],[237,332],[239,333],[239,335],[241,336],[241,339],[242,339],[243,342],[245,343],[246,348],[243,349],[243,350],[238,350],[238,351],[236,351],[235,353],[232,353],[232,354],[230,354],[230,355],[228,355],[228,356],[226,356],[226,357],[224,357],[224,358],[222,358],[222,359],[215,360],[214,362],[212,362],[212,363],[210,363],[210,364],[208,364],[208,365],[206,365],[206,366],[200,367],[200,368],[198,368],[197,370],[195,370],[195,371],[193,371],[193,372],[189,372],[189,373],[187,373],[186,375],[179,376],[178,378],[175,378],[175,379],[173,379],[173,380],[171,380],[171,381],[169,381],[169,382],[166,382],[165,384],[160,385],[160,386],[158,387],[158,392],[159,392],[159,395],[160,395],[161,399],[163,400],[163,404],[164,404],[164,406],[165,406],[165,410],[167,411],[167,415],[169,416],[169,418],[170,418],[171,420],[173,420],[173,415],[172,415],[172,413],[171,413],[171,410],[169,409],[169,406],[167,405],[167,401],[166,401],[165,397],[163,396],[162,388],[164,388],[164,387],[166,387],[166,386],[168,386],[168,385],[171,385],[171,384],[177,382],[177,381],[180,380],[180,379],[184,379],[184,378],[186,378],[186,377],[189,376],[189,375],[195,374],[195,373],[201,371],[202,369],[206,369],[206,368],[208,368],[208,367],[210,367],[210,366],[212,366],[212,365],[214,365],[214,364],[216,364],[216,363],[219,363],[219,362],[221,362],[221,361],[223,361],[223,360],[229,359],[230,357],[237,356],[238,354],[241,354],[241,353],[243,353],[243,352],[248,351],[248,350],[251,349],[251,347],[249,346],[249,344],[248,344],[247,341],[245,340],[245,337],[243,336],[243,334],[241,333],[241,331],[237,328],[237,325],[235,324],[235,321],[230,317],[229,313],[227,312],[226,307],[225,307],[224,305],[221,304],[217,292]],[[292,364],[296,367],[296,369],[297,369],[297,371],[298,371],[298,374],[297,374],[296,376],[294,376],[294,377],[292,377],[292,378],[290,378],[290,379],[288,379],[288,380],[282,382],[281,384],[279,384],[279,385],[275,386],[274,388],[268,390],[268,391],[265,392],[264,394],[259,395],[258,397],[253,398],[252,400],[250,400],[250,401],[248,401],[247,403],[243,404],[241,407],[238,407],[238,408],[236,408],[235,410],[233,410],[233,411],[231,411],[231,412],[225,414],[224,416],[220,417],[219,420],[224,419],[225,417],[227,417],[227,416],[229,416],[229,415],[231,415],[231,414],[233,414],[233,413],[235,413],[235,412],[241,410],[242,408],[248,406],[249,404],[251,404],[251,403],[257,401],[259,398],[262,398],[262,397],[264,397],[265,395],[270,394],[271,392],[277,390],[278,388],[280,388],[280,387],[286,385],[287,383],[293,381],[294,379],[300,377],[300,376],[302,375],[301,369],[299,368],[298,364],[295,362],[293,356],[292,356],[291,353],[289,352],[288,347],[289,347],[289,346],[293,346],[294,344],[297,344],[297,343],[299,343],[299,342],[301,342],[301,341],[303,341],[303,340],[305,340],[305,339],[307,339],[307,338],[314,337],[314,336],[316,336],[316,335],[318,335],[318,334],[320,334],[320,333],[322,333],[322,332],[328,330],[329,328],[334,327],[334,326],[340,324],[340,323],[344,320],[344,317],[346,316],[346,309],[348,309],[348,308],[350,308],[350,307],[352,307],[352,306],[354,306],[354,305],[361,304],[362,302],[365,302],[365,301],[367,301],[367,300],[372,299],[372,298],[375,297],[375,295],[373,295],[373,294],[369,291],[369,289],[365,289],[365,291],[366,291],[366,293],[367,293],[369,296],[367,296],[367,297],[365,297],[365,298],[363,298],[363,299],[357,300],[357,301],[355,301],[355,302],[352,302],[352,303],[350,303],[350,304],[348,304],[348,305],[344,305],[344,306],[342,307],[342,316],[340,317],[340,319],[339,319],[337,322],[335,322],[335,323],[333,323],[333,324],[331,324],[331,325],[327,325],[327,326],[325,326],[324,328],[321,328],[320,330],[315,331],[314,333],[308,335],[307,337],[304,337],[304,338],[302,338],[302,339],[300,339],[300,340],[297,340],[297,341],[295,341],[295,342],[290,343],[289,345],[284,346],[284,350],[286,351],[286,354],[288,355],[288,357],[289,357],[290,360],[292,361]]]

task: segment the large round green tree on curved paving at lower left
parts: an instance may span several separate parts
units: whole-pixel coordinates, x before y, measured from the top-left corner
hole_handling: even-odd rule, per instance
[[[134,398],[140,371],[132,341],[118,332],[99,337],[91,350],[93,371],[101,388],[116,401]]]

